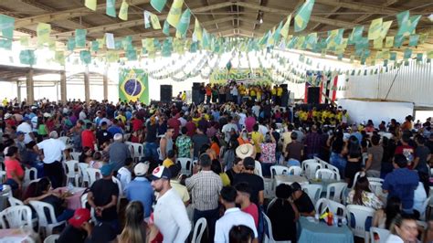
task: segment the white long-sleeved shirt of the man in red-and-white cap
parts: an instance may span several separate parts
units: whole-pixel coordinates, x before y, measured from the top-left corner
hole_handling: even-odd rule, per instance
[[[186,214],[184,202],[173,188],[165,192],[156,202],[153,223],[164,236],[163,242],[183,243],[188,238],[191,222]]]

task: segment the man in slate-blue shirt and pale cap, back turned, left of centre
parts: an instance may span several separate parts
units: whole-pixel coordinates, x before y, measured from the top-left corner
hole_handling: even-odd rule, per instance
[[[114,134],[114,143],[110,144],[108,152],[110,154],[110,164],[113,164],[114,171],[118,171],[125,164],[125,160],[131,158],[131,151],[128,145],[123,143],[121,133]]]

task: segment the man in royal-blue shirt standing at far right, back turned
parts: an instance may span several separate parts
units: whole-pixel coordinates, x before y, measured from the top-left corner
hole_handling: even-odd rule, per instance
[[[418,174],[407,169],[407,158],[403,154],[394,156],[393,165],[395,170],[386,175],[382,189],[384,193],[388,193],[388,199],[392,196],[400,198],[403,211],[412,214],[414,192],[419,183]]]

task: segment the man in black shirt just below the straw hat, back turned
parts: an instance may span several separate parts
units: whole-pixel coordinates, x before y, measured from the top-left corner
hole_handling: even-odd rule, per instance
[[[264,195],[263,190],[265,188],[263,178],[261,176],[254,174],[254,167],[256,162],[253,158],[247,157],[244,159],[244,171],[234,178],[234,183],[232,185],[237,185],[238,183],[244,182],[248,183],[251,187],[251,202],[255,203],[257,206],[263,205]]]

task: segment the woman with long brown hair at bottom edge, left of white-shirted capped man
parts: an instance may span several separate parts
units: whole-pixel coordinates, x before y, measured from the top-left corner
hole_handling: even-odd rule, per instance
[[[146,241],[146,224],[143,221],[144,207],[139,201],[132,201],[125,209],[125,227],[119,242],[141,243]]]

